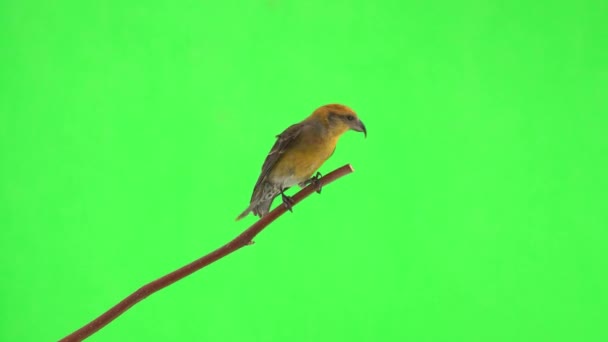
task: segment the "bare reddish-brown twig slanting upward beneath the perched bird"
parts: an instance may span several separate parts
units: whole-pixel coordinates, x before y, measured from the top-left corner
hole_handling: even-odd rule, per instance
[[[330,172],[326,176],[320,178],[319,183],[311,184],[299,191],[297,194],[295,194],[292,197],[293,205],[296,205],[304,198],[312,194],[315,190],[317,190],[317,187],[319,185],[327,185],[342,176],[346,176],[347,174],[353,171],[354,170],[352,166],[350,164],[347,164]],[[254,223],[251,227],[242,232],[232,241],[216,249],[215,251],[203,256],[202,258],[197,259],[189,263],[188,265],[167,274],[164,277],[158,278],[152,281],[151,283],[142,286],[141,288],[139,288],[139,290],[133,292],[131,295],[120,301],[118,304],[114,305],[110,310],[106,311],[101,316],[95,318],[93,321],[71,333],[70,335],[64,337],[61,342],[84,340],[85,338],[91,336],[96,331],[113,321],[116,317],[127,311],[130,307],[137,304],[138,302],[153,294],[154,292],[157,292],[175,283],[176,281],[191,275],[192,273],[200,270],[201,268],[211,264],[214,261],[217,261],[218,259],[225,257],[226,255],[236,251],[237,249],[243,246],[251,244],[253,238],[256,235],[258,235],[264,228],[266,228],[266,226],[276,220],[279,216],[285,213],[286,210],[287,208],[284,205],[277,206],[273,211],[259,219],[256,223]]]

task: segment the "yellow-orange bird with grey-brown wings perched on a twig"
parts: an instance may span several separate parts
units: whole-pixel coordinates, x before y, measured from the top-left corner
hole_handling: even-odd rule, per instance
[[[367,137],[365,125],[351,108],[328,104],[277,135],[253,187],[250,204],[236,220],[250,212],[263,217],[278,195],[292,211],[293,202],[284,191],[296,184],[304,187],[317,183],[321,174],[315,171],[334,153],[338,139],[349,130],[363,132]],[[320,191],[318,187],[317,192]]]

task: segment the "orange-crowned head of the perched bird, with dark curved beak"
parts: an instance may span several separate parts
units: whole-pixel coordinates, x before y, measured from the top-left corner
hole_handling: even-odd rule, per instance
[[[354,130],[357,132],[363,132],[367,137],[367,130],[365,125],[357,114],[349,107],[341,104],[329,104],[317,108],[312,115],[311,119],[321,120],[335,135],[341,135],[348,130]]]

